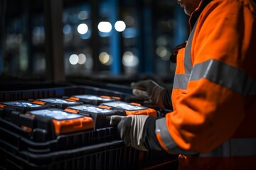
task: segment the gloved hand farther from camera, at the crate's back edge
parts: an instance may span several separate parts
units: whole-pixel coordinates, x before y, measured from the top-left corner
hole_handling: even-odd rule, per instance
[[[127,101],[149,104],[154,107],[164,108],[164,87],[152,80],[138,81],[131,84],[134,96],[129,96]]]

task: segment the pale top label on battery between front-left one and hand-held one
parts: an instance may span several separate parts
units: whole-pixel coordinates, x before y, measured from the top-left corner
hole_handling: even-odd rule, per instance
[[[90,106],[90,105],[80,105],[80,106],[70,106],[69,108],[78,110],[78,111],[85,111],[88,113],[112,113],[106,108],[98,108],[97,106]]]

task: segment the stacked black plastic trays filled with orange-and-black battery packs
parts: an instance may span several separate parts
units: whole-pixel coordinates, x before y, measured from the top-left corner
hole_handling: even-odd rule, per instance
[[[158,116],[125,103],[129,95],[93,86],[0,92],[0,169],[177,169],[176,156],[127,147],[107,123],[110,115]]]

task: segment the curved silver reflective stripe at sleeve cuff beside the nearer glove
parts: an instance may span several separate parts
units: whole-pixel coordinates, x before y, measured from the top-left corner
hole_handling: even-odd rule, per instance
[[[166,118],[161,118],[156,120],[156,133],[160,133],[161,140],[164,142],[164,145],[167,147],[167,149],[176,154],[196,154],[195,152],[186,151],[184,149],[181,149],[176,145],[176,142],[174,142],[173,138],[171,137],[167,125],[166,125]]]

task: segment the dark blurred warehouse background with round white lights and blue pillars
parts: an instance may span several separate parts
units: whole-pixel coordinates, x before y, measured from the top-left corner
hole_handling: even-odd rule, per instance
[[[169,57],[188,38],[188,16],[174,0],[0,1],[1,90],[171,83]]]

